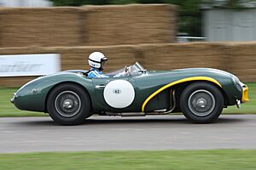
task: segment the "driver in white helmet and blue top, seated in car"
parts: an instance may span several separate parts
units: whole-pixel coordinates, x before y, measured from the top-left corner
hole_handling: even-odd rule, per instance
[[[108,61],[108,58],[101,52],[93,52],[89,55],[88,63],[90,65],[89,78],[93,77],[108,77],[102,73],[104,65]]]

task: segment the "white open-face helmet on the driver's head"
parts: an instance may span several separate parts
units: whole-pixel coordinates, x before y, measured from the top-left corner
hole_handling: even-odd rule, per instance
[[[91,67],[101,70],[102,62],[107,60],[108,58],[101,52],[93,52],[89,55],[88,63]]]

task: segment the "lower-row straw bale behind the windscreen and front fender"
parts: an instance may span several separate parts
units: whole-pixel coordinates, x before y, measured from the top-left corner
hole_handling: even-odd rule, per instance
[[[214,43],[140,45],[146,68],[172,70],[190,67],[224,69],[224,47]]]

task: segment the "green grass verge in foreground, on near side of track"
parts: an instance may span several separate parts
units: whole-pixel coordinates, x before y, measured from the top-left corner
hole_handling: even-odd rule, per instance
[[[0,154],[0,169],[254,170],[256,150],[87,151]]]

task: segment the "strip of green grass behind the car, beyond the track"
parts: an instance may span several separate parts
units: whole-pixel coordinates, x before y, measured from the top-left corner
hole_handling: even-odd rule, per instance
[[[241,105],[241,109],[231,106],[224,114],[256,114],[256,82],[248,82],[250,101]],[[9,102],[17,88],[0,88],[0,117],[4,116],[47,116],[44,113],[20,111]]]

